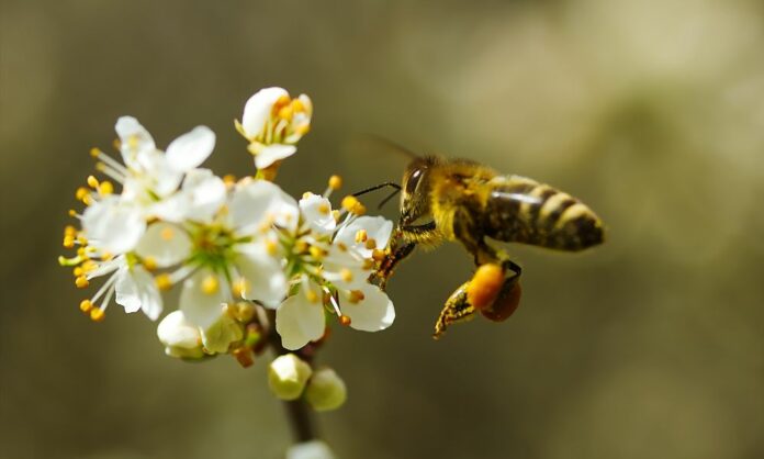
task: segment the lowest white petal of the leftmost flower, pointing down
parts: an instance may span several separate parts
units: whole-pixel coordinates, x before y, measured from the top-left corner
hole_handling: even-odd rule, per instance
[[[125,312],[143,312],[151,321],[156,321],[161,313],[161,295],[154,278],[143,267],[127,266],[120,268],[116,283],[116,304],[124,306]]]

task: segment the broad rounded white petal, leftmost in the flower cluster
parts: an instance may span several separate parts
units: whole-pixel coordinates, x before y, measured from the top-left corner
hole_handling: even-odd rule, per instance
[[[135,247],[146,231],[146,221],[139,208],[112,195],[85,210],[82,228],[93,247],[116,255]]]

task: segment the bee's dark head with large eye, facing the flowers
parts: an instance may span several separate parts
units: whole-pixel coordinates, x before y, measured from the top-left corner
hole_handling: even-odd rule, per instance
[[[401,192],[401,225],[411,225],[430,217],[430,171],[437,164],[435,157],[413,160],[403,175]]]

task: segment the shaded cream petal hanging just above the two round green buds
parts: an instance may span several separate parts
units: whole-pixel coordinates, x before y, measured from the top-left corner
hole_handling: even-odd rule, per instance
[[[321,290],[311,288],[315,289],[314,293],[321,299]],[[281,335],[281,345],[290,350],[300,349],[321,338],[324,336],[325,327],[324,306],[321,301],[308,301],[302,290],[284,300],[276,312],[276,331]]]

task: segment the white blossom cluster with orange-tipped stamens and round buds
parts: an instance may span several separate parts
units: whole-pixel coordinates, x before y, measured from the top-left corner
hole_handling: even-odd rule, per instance
[[[274,347],[282,357],[271,363],[270,380],[279,396],[278,376],[297,365],[283,359],[307,365],[303,359],[310,361],[333,316],[366,332],[389,327],[393,304],[367,280],[392,222],[366,216],[353,197],[333,209],[337,176],[322,194],[307,192],[299,201],[272,182],[307,133],[312,112],[307,96],[291,99],[281,88],[252,96],[236,127],[258,173],[240,180],[201,168],[215,146],[209,127],[198,126],[161,150],[136,119],[120,117],[115,145],[122,160],[91,152],[103,177],[90,176],[77,190],[86,209],[70,214],[80,227],[64,232],[64,246],[76,254],[59,261],[74,268],[76,286],[100,282],[80,303],[82,312],[101,321],[114,302],[157,320],[165,311],[161,292],[178,287],[178,309],[157,329],[166,352],[183,359],[231,354],[248,366]],[[304,395],[317,410],[345,400],[333,370],[301,374],[307,377],[299,391],[282,398],[302,395],[310,378]]]

